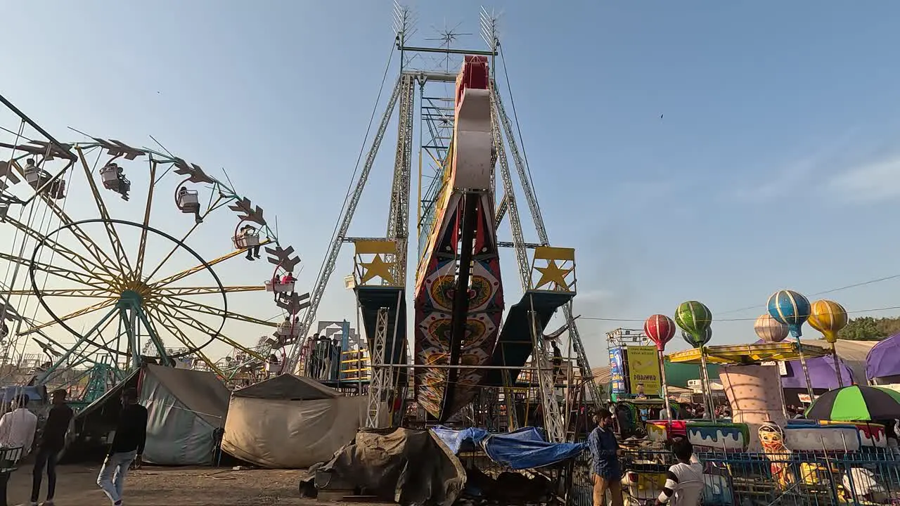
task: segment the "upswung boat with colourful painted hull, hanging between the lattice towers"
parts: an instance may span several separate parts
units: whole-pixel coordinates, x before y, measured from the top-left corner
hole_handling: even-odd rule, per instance
[[[466,56],[456,77],[446,191],[416,279],[419,404],[444,421],[473,399],[503,312],[491,195],[491,91],[487,59]],[[451,367],[441,367],[451,366]]]

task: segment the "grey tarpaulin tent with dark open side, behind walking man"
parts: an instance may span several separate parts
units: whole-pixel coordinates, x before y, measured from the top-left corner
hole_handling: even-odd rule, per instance
[[[139,402],[148,411],[145,462],[212,464],[213,431],[225,426],[228,388],[212,373],[155,365],[134,371],[76,414],[67,460],[103,458],[119,418],[121,392],[129,387],[139,388]]]

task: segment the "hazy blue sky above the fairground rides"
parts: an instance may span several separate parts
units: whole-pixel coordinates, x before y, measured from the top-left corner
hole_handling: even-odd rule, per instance
[[[311,288],[392,47],[391,3],[46,5],[4,7],[21,23],[0,32],[3,94],[62,140],[77,137],[67,126],[136,144],[151,134],[225,167],[278,215]],[[643,319],[694,299],[723,319],[754,318],[779,288],[814,294],[900,272],[900,5],[485,5],[502,12],[551,240],[578,250],[576,312]],[[478,2],[412,6],[419,41],[445,23],[477,32]],[[392,135],[351,235],[383,233]],[[320,320],[353,319],[348,251],[339,262]],[[900,305],[898,286],[831,296],[870,310]],[[618,326],[640,324],[582,322],[595,364]],[[714,343],[755,339],[752,321],[714,328]]]

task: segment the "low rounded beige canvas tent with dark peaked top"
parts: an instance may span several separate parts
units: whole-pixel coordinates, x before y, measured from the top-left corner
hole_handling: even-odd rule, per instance
[[[222,450],[261,467],[305,469],[353,440],[367,401],[310,378],[275,376],[231,394]]]

